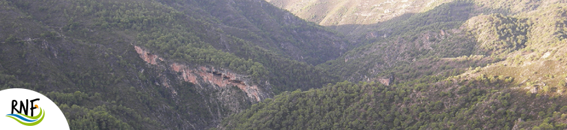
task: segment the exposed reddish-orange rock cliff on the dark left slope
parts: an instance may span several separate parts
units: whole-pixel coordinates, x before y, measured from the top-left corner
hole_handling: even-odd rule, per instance
[[[258,103],[263,99],[271,98],[273,93],[267,92],[269,90],[269,83],[267,81],[256,81],[253,83],[246,75],[240,75],[230,70],[223,68],[215,68],[214,66],[199,66],[194,64],[185,64],[179,62],[168,62],[164,58],[159,57],[143,49],[142,47],[135,46],[135,51],[140,55],[140,58],[148,64],[148,66],[161,70],[158,75],[159,86],[168,88],[170,90],[172,99],[184,100],[177,97],[178,88],[187,87],[182,86],[182,82],[189,82],[194,84],[197,92],[210,99],[206,99],[211,104],[219,104],[216,107],[227,109],[228,111],[223,114],[213,114],[216,117],[214,122],[219,122],[222,118],[241,112],[247,106]],[[259,84],[263,83],[263,84]],[[176,101],[177,103],[177,101]],[[219,109],[211,106],[209,109]]]

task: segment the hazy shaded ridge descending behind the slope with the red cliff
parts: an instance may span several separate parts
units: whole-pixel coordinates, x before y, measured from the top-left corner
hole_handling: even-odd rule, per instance
[[[208,22],[220,24],[216,27],[225,34],[313,65],[338,57],[348,46],[341,36],[265,1],[168,1],[166,4],[187,14],[210,16],[212,21]],[[215,38],[213,44],[217,49],[234,52],[231,50],[234,45],[227,44],[227,40]]]

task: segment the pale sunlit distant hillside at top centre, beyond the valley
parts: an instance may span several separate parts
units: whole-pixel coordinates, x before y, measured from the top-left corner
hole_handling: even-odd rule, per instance
[[[289,10],[300,18],[320,25],[337,26],[335,29],[344,34],[353,34],[354,30],[388,21],[403,14],[414,14],[433,8],[445,1],[316,1],[316,0],[268,0],[270,3]],[[347,27],[338,25],[353,25]]]

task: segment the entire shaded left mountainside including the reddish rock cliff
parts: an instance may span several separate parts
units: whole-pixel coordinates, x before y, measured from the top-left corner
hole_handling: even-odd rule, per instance
[[[265,1],[0,1],[0,90],[36,90],[71,129],[207,129],[285,90],[342,36]]]

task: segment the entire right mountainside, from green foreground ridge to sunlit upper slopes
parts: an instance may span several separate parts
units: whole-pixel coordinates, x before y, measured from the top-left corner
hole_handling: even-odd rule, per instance
[[[566,9],[452,1],[394,18],[364,36],[373,41],[320,65],[369,83],[285,92],[217,128],[566,129]],[[392,72],[390,86],[372,80]]]

